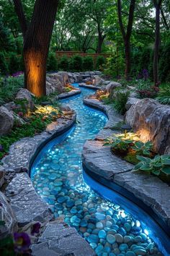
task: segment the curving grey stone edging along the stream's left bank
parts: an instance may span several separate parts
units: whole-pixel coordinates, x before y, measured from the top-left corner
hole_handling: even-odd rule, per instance
[[[4,188],[6,197],[14,211],[19,226],[32,221],[50,221],[53,214],[48,205],[37,195],[30,176],[27,174],[37,153],[54,137],[63,134],[76,122],[76,112],[69,117],[61,117],[49,124],[45,132],[35,137],[26,137],[15,142],[9,149],[9,155],[3,158],[3,168],[11,179]]]

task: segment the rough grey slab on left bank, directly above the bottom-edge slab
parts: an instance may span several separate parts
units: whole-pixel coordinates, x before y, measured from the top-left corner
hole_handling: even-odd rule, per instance
[[[32,221],[50,221],[53,218],[48,205],[37,195],[26,173],[16,174],[6,187],[5,194],[10,200],[19,226]]]

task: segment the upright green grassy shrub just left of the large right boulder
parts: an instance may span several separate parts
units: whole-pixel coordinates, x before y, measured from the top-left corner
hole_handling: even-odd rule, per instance
[[[125,105],[128,101],[129,95],[130,95],[129,91],[121,91],[121,90],[116,91],[115,98],[113,101],[113,106],[119,114],[125,114],[126,112]]]

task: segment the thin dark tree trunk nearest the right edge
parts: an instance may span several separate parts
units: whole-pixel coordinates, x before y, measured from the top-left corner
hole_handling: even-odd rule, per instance
[[[153,57],[153,81],[155,86],[158,86],[158,50],[160,45],[160,13],[161,3],[163,0],[153,0],[154,7],[156,9],[156,32],[155,32],[155,46]]]

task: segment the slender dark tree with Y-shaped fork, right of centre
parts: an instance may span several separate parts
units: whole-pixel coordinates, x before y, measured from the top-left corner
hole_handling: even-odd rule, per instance
[[[122,38],[125,45],[125,78],[128,78],[130,74],[130,37],[132,35],[133,30],[133,20],[134,20],[134,12],[135,12],[135,0],[130,0],[130,8],[128,13],[128,25],[127,29],[125,29],[125,25],[122,22],[122,4],[121,0],[117,0],[117,13],[118,20],[120,24],[120,30],[122,33]]]

